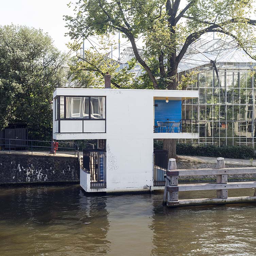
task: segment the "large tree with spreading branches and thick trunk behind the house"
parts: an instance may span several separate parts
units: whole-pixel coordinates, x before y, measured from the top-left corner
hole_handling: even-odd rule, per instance
[[[252,26],[256,20],[250,19],[252,4],[253,0],[79,0],[75,16],[65,19],[71,38],[121,32],[130,40],[135,58],[153,87],[174,90],[178,87],[178,64],[203,34],[228,35],[254,57]],[[135,43],[141,34],[143,53]],[[169,157],[176,155],[176,141],[165,140],[164,148],[169,150]]]

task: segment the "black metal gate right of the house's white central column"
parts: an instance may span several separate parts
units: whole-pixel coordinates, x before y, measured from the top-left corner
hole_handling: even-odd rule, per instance
[[[154,149],[154,186],[165,186],[167,167],[167,150]]]

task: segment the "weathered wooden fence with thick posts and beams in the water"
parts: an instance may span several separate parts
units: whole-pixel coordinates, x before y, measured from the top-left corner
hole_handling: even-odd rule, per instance
[[[196,206],[196,205],[214,205],[214,204],[234,204],[234,203],[252,203],[256,202],[256,192],[250,197],[228,197],[228,189],[237,188],[256,188],[256,182],[227,182],[227,175],[230,174],[252,174],[256,173],[255,167],[248,168],[225,168],[223,157],[217,158],[216,169],[187,169],[177,170],[176,160],[169,159],[168,171],[164,190],[163,204],[169,207],[177,206]],[[198,175],[216,175],[216,183],[204,184],[181,184],[178,185],[180,176],[198,176]],[[179,191],[196,190],[217,190],[216,198],[179,200]]]

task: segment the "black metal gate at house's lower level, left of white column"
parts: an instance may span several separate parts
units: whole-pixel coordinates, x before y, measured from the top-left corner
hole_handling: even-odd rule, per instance
[[[106,188],[106,152],[83,150],[83,167],[90,172],[91,188]]]

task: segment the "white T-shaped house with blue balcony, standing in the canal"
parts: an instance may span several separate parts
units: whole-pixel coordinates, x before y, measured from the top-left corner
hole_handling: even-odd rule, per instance
[[[159,189],[166,169],[156,163],[153,140],[198,138],[197,120],[181,113],[182,101],[197,97],[184,90],[57,88],[53,138],[98,140],[97,149],[83,151],[86,192]]]

